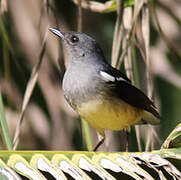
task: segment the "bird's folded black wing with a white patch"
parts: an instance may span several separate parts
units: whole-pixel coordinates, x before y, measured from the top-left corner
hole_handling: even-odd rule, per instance
[[[106,84],[110,85],[109,89],[112,96],[134,107],[144,109],[160,119],[153,102],[141,90],[133,86],[120,71],[112,68],[109,71],[100,71],[100,76]]]

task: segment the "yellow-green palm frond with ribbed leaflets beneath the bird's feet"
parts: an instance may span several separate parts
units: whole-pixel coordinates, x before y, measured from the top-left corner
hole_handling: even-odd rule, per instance
[[[1,151],[0,167],[2,175],[5,176],[5,171],[11,168],[9,174],[13,177],[21,174],[25,178],[37,177],[40,180],[45,180],[45,177],[66,180],[67,175],[74,179],[87,180],[100,177],[111,180],[181,179],[181,157],[176,151],[176,149],[142,153]],[[170,162],[170,159],[168,161],[166,158],[174,159],[175,162]],[[154,173],[151,173],[153,171]]]

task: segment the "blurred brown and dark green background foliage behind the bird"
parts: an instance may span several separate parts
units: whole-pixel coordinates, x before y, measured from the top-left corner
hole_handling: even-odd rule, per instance
[[[162,116],[161,125],[154,128],[157,134],[154,148],[158,149],[181,122],[181,1],[151,2],[162,29],[160,31],[155,24],[153,11],[150,13],[150,61],[155,102]],[[64,53],[58,39],[47,31],[57,26],[76,31],[77,5],[71,0],[1,0],[0,4],[0,90],[12,139],[31,71],[39,61],[43,39],[46,39],[38,80],[21,126],[18,149],[85,150],[81,121],[62,96]],[[111,61],[116,17],[116,12],[83,9],[82,31],[97,40],[108,61]],[[140,84],[144,87],[146,80],[142,73],[145,67],[139,53],[136,57]],[[152,141],[155,137],[150,131],[145,125],[140,128],[143,150],[148,141],[145,138],[149,136]],[[93,129],[91,137],[96,144]],[[130,150],[137,151],[134,128],[129,139]],[[104,145],[101,150],[124,150],[124,141],[124,133],[108,131],[106,144],[109,146]],[[0,149],[5,149],[2,139]]]

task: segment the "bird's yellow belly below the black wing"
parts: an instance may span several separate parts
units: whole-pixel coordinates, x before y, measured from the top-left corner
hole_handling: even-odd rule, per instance
[[[138,123],[143,110],[130,106],[119,100],[92,100],[77,107],[80,116],[96,128],[98,132],[104,130],[122,130]]]

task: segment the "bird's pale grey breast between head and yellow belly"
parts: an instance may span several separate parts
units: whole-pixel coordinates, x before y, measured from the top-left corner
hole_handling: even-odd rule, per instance
[[[64,97],[74,109],[102,91],[95,72],[80,67],[77,69],[66,71],[62,85]]]

